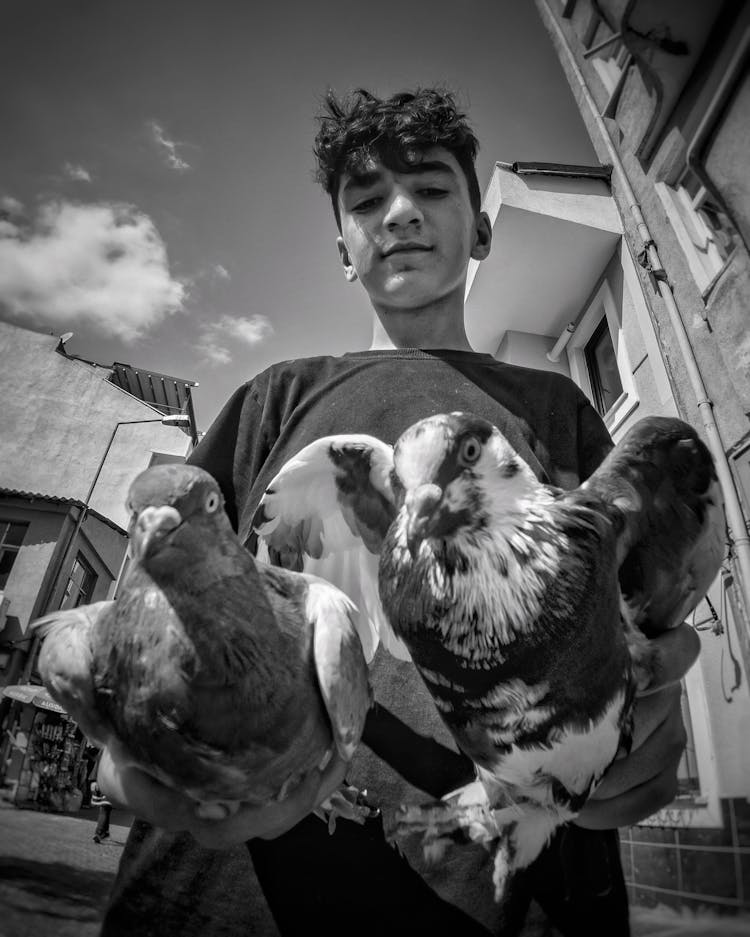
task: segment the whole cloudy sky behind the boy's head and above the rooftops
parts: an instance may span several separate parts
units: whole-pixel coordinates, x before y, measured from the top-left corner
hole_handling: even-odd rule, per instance
[[[496,160],[595,164],[532,0],[5,0],[0,318],[199,382],[367,348],[314,181],[328,88],[452,88]]]

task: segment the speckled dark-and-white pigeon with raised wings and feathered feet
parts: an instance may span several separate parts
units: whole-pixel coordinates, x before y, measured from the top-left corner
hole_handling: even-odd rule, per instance
[[[656,664],[646,635],[706,594],[726,529],[711,454],[681,420],[638,421],[563,491],[468,413],[423,419],[393,448],[316,440],[254,527],[271,562],[324,574],[413,660],[476,779],[402,808],[394,836],[420,835],[433,859],[482,842],[497,900],[629,750]]]

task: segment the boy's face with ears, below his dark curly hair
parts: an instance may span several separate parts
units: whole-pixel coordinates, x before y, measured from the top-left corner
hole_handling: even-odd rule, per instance
[[[406,171],[373,160],[344,174],[339,251],[379,310],[422,309],[463,291],[469,259],[489,253],[491,226],[475,214],[456,158],[432,147]]]

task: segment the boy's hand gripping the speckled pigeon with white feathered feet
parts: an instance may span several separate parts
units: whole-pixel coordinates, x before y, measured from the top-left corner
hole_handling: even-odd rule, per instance
[[[660,663],[635,703],[631,752],[617,756],[573,821],[578,826],[632,826],[666,807],[677,794],[677,766],[687,740],[680,681],[698,657],[700,638],[682,624],[653,640],[661,650]]]

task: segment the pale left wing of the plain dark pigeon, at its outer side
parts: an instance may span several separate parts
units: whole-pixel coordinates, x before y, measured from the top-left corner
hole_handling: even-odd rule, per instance
[[[113,606],[114,602],[95,602],[52,612],[32,626],[43,639],[39,672],[50,696],[99,745],[107,744],[112,728],[96,705],[93,642],[103,616]]]

